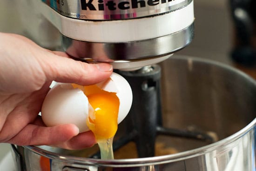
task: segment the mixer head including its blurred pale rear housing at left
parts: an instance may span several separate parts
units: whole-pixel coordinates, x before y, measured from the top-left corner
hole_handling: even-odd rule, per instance
[[[86,62],[110,62],[115,69],[137,69],[159,63],[189,45],[194,37],[193,0],[113,1],[116,6],[122,2],[139,6],[121,10],[121,14],[115,10],[109,13],[82,10],[82,3],[101,4],[97,0],[16,1],[15,10],[22,23],[20,32],[38,45],[66,51]],[[106,10],[110,2],[103,1]],[[144,3],[147,7],[141,7]],[[84,13],[85,20],[77,19],[77,15]],[[145,24],[135,24],[142,21]],[[166,25],[168,21],[171,24]]]

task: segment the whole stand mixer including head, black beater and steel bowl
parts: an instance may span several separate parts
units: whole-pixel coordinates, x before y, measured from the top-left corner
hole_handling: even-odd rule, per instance
[[[193,39],[193,0],[27,0],[17,4],[27,37],[40,46],[63,47],[73,59],[88,63],[111,63],[128,80],[134,101],[124,127],[120,125],[125,136],[116,136],[114,150],[134,141],[138,153],[138,158],[108,161],[98,159],[97,153],[85,157],[51,147],[12,145],[18,170],[37,170],[42,156],[50,160],[53,171],[254,169],[255,82],[216,63],[168,59]],[[167,96],[165,101],[160,93],[161,67],[155,65],[161,61],[164,81],[169,84],[161,90],[166,92],[162,94]],[[237,86],[231,86],[234,82]],[[249,105],[240,105],[236,99]],[[162,112],[162,105],[166,111]],[[162,113],[168,116],[162,118]],[[201,129],[184,131],[191,123]],[[237,125],[235,131],[231,129]],[[217,138],[208,130],[217,132],[221,141],[213,143]],[[177,143],[185,147],[182,152],[153,157],[157,135],[207,143],[193,146],[184,138]],[[169,139],[167,144],[173,145]]]

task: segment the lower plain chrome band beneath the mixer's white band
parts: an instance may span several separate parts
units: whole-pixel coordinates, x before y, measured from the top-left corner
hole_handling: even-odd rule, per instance
[[[62,36],[64,50],[72,57],[86,62],[128,62],[159,58],[187,46],[194,37],[194,23],[166,36],[121,43],[95,43]]]

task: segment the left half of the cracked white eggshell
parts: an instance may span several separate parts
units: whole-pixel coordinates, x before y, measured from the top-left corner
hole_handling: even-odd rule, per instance
[[[86,119],[89,103],[87,97],[71,84],[57,83],[44,99],[41,116],[47,126],[75,124],[80,132],[88,131]]]

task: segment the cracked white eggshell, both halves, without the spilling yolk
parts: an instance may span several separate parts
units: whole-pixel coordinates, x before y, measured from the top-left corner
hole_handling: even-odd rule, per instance
[[[116,92],[120,101],[118,124],[127,116],[132,105],[132,90],[127,80],[117,73],[97,84],[108,92]],[[86,124],[88,113],[94,112],[88,99],[80,89],[71,84],[57,83],[44,99],[41,116],[47,126],[74,124],[80,132],[89,131]]]

